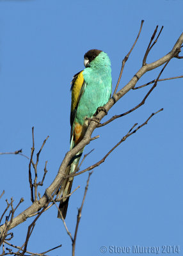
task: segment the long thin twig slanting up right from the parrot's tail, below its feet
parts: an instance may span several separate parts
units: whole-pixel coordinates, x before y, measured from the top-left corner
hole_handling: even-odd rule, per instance
[[[123,141],[125,141],[129,136],[131,136],[132,134],[134,134],[136,131],[138,131],[138,129],[140,129],[141,127],[143,127],[145,124],[148,123],[148,120],[150,120],[150,118],[152,118],[152,116],[156,115],[157,113],[159,113],[160,111],[163,111],[163,108],[159,109],[159,111],[155,112],[155,113],[152,113],[152,115],[150,115],[148,117],[148,119],[141,125],[138,126],[138,128],[136,128],[134,131],[132,131],[132,129],[137,125],[137,124],[134,124],[132,126],[132,128],[129,130],[129,132],[123,136],[122,140],[120,140],[113,148],[111,148],[111,150],[109,150],[109,152],[107,152],[107,154],[97,163],[89,166],[88,168],[84,169],[83,171],[81,172],[78,172],[78,173],[75,173],[75,174],[70,174],[66,177],[67,178],[70,178],[70,177],[75,177],[77,175],[80,175],[81,173],[84,173],[84,172],[88,172],[88,171],[91,171],[93,170],[94,168],[96,168],[97,166],[99,166],[100,164],[104,163],[104,161],[106,160],[106,158],[109,156],[109,154],[111,154],[111,152],[113,152],[113,150],[115,150],[116,147],[118,147]]]

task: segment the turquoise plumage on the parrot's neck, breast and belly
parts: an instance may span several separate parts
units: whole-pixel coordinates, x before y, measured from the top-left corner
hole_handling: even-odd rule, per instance
[[[106,52],[100,54],[83,70],[83,94],[79,100],[76,122],[83,125],[86,116],[91,118],[97,108],[104,106],[111,97],[111,61]]]

